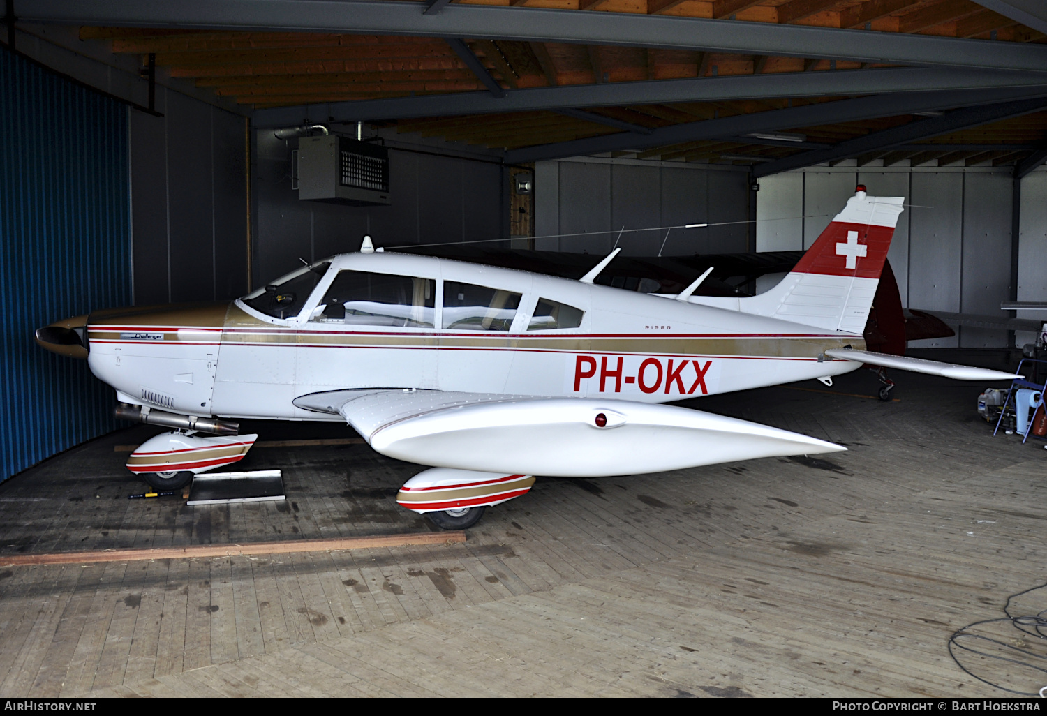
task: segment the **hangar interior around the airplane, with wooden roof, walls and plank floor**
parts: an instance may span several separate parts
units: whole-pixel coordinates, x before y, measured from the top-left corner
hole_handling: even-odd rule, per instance
[[[129,500],[126,453],[160,430],[114,419],[85,361],[32,340],[98,309],[228,301],[364,236],[572,278],[619,247],[629,267],[683,270],[682,288],[706,256],[795,264],[861,184],[905,198],[888,254],[901,307],[952,334],[909,355],[1043,357],[1043,3],[5,10],[2,557],[439,532],[395,500],[417,466],[343,424],[245,421],[266,448],[243,465],[282,469],[285,501]],[[367,199],[303,198],[325,137],[387,158]],[[712,275],[759,294],[790,266]],[[2,691],[1034,692],[1031,672],[950,648],[1042,579],[1044,444],[993,435],[976,412],[989,383],[892,378],[888,402],[859,371],[684,403],[848,447],[831,460],[540,478],[463,543],[2,567]]]

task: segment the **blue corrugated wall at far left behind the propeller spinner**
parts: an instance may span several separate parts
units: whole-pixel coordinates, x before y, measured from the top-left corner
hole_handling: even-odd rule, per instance
[[[131,303],[128,110],[0,51],[0,479],[115,427],[40,326]]]

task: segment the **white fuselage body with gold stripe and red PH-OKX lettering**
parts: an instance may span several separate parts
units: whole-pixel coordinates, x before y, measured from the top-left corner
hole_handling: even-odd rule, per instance
[[[864,348],[853,333],[525,271],[393,252],[330,261],[287,318],[243,299],[195,313],[170,307],[92,314],[91,371],[121,401],[173,412],[340,420],[292,401],[396,387],[664,403],[840,375],[860,364],[825,359],[824,351]],[[338,271],[431,279],[432,326],[317,316]],[[518,294],[508,330],[443,328],[452,311],[444,306],[445,282]],[[539,300],[582,312],[579,325],[529,330]]]

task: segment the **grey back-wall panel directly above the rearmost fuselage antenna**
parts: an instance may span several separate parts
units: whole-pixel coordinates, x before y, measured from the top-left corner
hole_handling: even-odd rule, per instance
[[[714,172],[662,167],[662,226],[685,226],[709,221],[709,182],[716,180]],[[668,238],[666,238],[668,233]],[[676,228],[661,231],[659,247],[664,243],[666,256],[710,253],[712,241],[708,228]],[[656,255],[658,250],[648,255]]]

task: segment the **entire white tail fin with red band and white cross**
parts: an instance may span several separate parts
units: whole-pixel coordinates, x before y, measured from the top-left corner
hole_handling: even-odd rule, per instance
[[[861,334],[903,201],[866,196],[865,186],[859,185],[800,263],[775,288],[743,298],[741,310]]]

